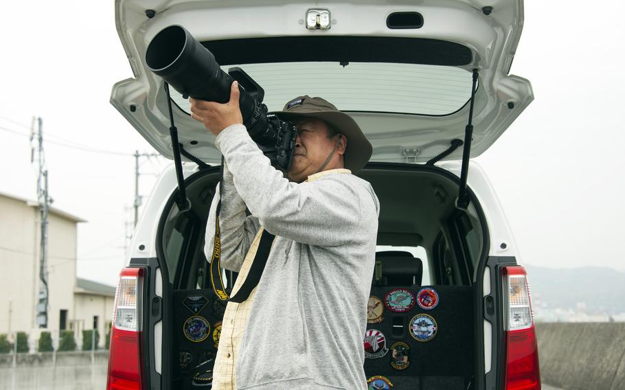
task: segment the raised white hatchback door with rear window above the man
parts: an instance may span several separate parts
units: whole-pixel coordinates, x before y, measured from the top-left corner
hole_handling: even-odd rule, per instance
[[[149,8],[119,0],[116,7],[135,78],[115,84],[111,103],[170,159],[166,91],[146,66],[150,41],[170,25],[191,32],[224,71],[245,70],[264,89],[269,111],[307,94],[352,115],[373,145],[371,161],[426,162],[453,139],[464,141],[473,69],[470,157],[533,98],[530,82],[508,74],[523,27],[520,0],[158,1]],[[172,100],[183,148],[219,163],[214,136],[191,119],[188,101],[176,91]],[[444,158],[461,159],[462,148]]]

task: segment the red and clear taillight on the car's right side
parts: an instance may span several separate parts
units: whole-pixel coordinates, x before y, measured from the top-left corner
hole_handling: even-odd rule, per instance
[[[503,277],[505,390],[541,390],[538,345],[530,285],[522,266],[504,266]]]

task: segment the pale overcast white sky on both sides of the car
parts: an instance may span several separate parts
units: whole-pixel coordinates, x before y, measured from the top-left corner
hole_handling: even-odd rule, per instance
[[[494,185],[523,262],[625,271],[625,3],[525,2],[510,73],[535,100],[475,160]],[[28,135],[43,119],[53,206],[78,225],[78,276],[115,285],[133,220],[135,150],[155,150],[109,104],[132,78],[113,1],[11,1],[0,14],[0,192],[36,199]],[[167,161],[141,159],[147,196]],[[1,216],[0,216],[1,218]]]

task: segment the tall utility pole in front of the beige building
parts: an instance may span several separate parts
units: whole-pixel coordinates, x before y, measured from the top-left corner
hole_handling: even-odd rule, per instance
[[[33,118],[34,119],[34,118]],[[37,201],[39,204],[39,212],[41,214],[41,238],[39,246],[39,301],[37,303],[37,325],[39,328],[47,328],[47,307],[49,297],[48,272],[47,272],[47,226],[48,226],[48,210],[52,200],[48,196],[48,171],[45,168],[45,155],[43,153],[43,121],[41,117],[37,121],[37,160],[38,160],[38,176],[37,176]],[[33,120],[34,125],[34,120]],[[34,139],[34,126],[31,130],[30,140]],[[34,148],[31,149],[30,162],[34,163]]]

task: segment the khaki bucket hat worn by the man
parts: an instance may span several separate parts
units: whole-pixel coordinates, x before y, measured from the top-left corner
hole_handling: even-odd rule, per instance
[[[286,103],[282,111],[273,111],[270,114],[275,114],[286,120],[295,117],[319,119],[345,135],[345,138],[348,139],[348,146],[345,149],[343,161],[345,168],[354,173],[365,166],[373,152],[371,143],[356,124],[356,121],[350,115],[337,110],[334,104],[325,99],[310,98],[308,95],[298,96]]]

